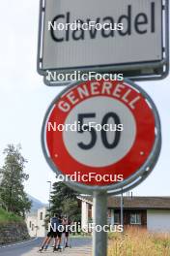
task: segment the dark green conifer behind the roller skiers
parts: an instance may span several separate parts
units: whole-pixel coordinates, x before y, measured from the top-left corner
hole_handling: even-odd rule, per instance
[[[66,215],[72,221],[80,220],[81,208],[77,199],[78,193],[72,190],[65,183],[59,181],[53,184],[50,196],[50,212]]]

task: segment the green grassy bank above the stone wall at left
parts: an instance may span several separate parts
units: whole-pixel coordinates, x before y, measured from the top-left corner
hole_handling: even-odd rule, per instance
[[[23,222],[23,219],[13,212],[8,212],[3,208],[0,208],[0,223],[5,224],[9,222]]]

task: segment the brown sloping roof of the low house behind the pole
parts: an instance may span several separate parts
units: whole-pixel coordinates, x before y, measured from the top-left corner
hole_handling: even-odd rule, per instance
[[[91,196],[78,197],[82,201],[93,204]],[[120,208],[121,197],[109,197],[108,208]],[[170,197],[124,197],[124,208],[170,209]]]

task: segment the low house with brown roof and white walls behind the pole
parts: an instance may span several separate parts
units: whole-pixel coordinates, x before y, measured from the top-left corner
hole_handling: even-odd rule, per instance
[[[93,219],[93,200],[89,196],[81,201],[81,224]],[[124,225],[146,228],[151,232],[170,233],[170,197],[124,197]],[[121,198],[110,197],[107,204],[108,224],[121,224]]]

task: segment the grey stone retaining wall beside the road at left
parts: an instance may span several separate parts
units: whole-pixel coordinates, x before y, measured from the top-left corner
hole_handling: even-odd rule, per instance
[[[0,223],[0,245],[28,239],[25,222]]]

